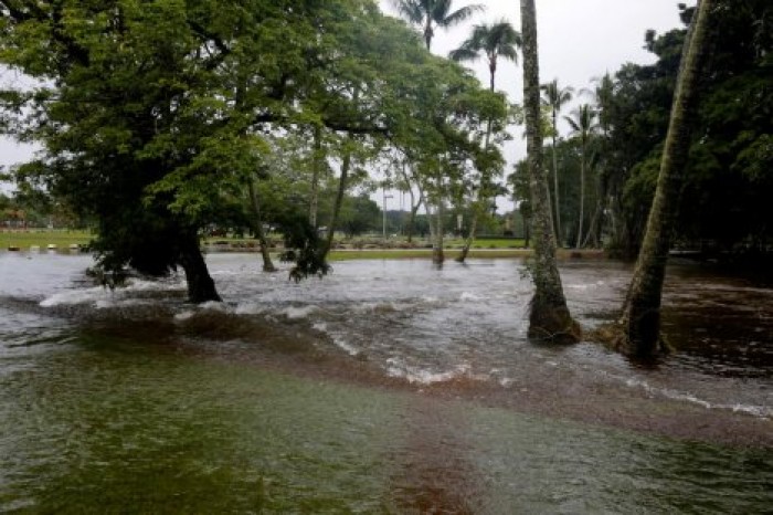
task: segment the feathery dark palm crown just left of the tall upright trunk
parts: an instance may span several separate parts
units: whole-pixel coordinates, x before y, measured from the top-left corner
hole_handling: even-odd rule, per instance
[[[475,25],[473,33],[462,46],[451,52],[454,61],[477,61],[481,54],[488,61],[491,75],[490,87],[494,91],[494,77],[497,73],[499,56],[518,62],[518,50],[521,48],[521,34],[512,25],[501,20],[494,24]]]

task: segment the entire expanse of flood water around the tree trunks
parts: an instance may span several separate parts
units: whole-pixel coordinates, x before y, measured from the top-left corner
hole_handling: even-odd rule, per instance
[[[640,367],[526,340],[516,260],[352,261],[300,284],[213,254],[93,287],[83,255],[0,254],[2,513],[770,513],[773,290],[671,266]],[[625,264],[563,263],[610,320]]]

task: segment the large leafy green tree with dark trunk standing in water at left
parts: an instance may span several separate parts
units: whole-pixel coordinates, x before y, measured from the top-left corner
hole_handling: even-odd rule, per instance
[[[15,135],[44,146],[20,177],[95,217],[105,269],[181,266],[194,302],[219,298],[199,232],[231,223],[265,169],[264,135],[384,132],[374,55],[411,40],[364,0],[4,0],[0,11],[2,63],[39,80],[2,95]],[[368,31],[363,56],[354,42]],[[301,275],[324,270],[316,231],[284,218],[309,249]]]

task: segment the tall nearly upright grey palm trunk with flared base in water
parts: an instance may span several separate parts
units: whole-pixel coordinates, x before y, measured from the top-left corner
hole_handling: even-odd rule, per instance
[[[537,13],[534,0],[521,0],[523,38],[523,104],[526,107],[529,188],[533,209],[536,291],[529,316],[530,338],[555,343],[579,340],[580,327],[572,319],[563,295],[555,263],[555,240],[548,201],[548,182],[542,167],[539,61],[537,53]]]

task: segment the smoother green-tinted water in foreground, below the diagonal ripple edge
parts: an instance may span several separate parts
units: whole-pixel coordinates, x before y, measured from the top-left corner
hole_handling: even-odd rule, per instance
[[[770,513],[771,456],[126,338],[0,360],[3,513]]]

